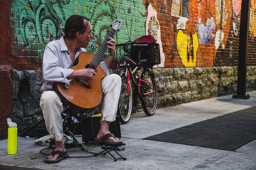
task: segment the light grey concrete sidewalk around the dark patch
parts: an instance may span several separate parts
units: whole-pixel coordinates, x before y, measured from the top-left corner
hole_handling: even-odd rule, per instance
[[[121,125],[121,139],[126,145],[125,150],[119,153],[127,158],[125,161],[114,161],[106,154],[89,158],[67,158],[56,164],[47,164],[44,163],[46,155],[39,153],[46,147],[34,144],[36,138],[19,137],[16,155],[7,155],[7,140],[0,140],[0,169],[256,169],[256,140],[235,152],[142,140],[151,135],[256,106],[256,91],[248,94],[248,100],[232,99],[232,95],[227,95],[158,108],[153,116],[146,116],[144,112],[132,115],[129,123]],[[81,137],[78,139],[81,141]],[[101,151],[100,147],[84,145],[84,148],[90,152]],[[77,148],[67,151],[70,156],[90,155]],[[31,159],[33,155],[36,159]],[[115,153],[113,155],[116,156]]]

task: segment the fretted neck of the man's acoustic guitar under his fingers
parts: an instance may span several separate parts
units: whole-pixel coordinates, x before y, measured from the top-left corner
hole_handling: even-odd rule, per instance
[[[93,60],[91,61],[91,64],[95,67],[97,67],[102,59],[102,57],[104,56],[106,49],[108,48],[108,41],[109,41],[109,37],[113,38],[114,35],[116,33],[115,29],[111,29],[109,31],[109,33],[106,35],[104,41],[102,42],[101,46],[99,47],[98,52],[96,53],[96,55],[94,56]]]

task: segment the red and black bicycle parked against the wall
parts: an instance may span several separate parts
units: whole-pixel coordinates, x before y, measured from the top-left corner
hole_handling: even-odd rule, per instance
[[[137,47],[137,61],[128,56],[129,45],[132,47]],[[137,98],[140,99],[142,109],[146,115],[152,116],[156,111],[157,87],[153,74],[153,65],[145,65],[145,63],[143,63],[145,60],[141,59],[143,47],[146,47],[147,45],[148,44],[145,42],[116,45],[117,47],[122,46],[122,50],[124,51],[122,62],[118,65],[120,69],[119,75],[122,79],[122,88],[118,103],[118,114],[119,120],[122,124],[129,122],[132,114],[133,100],[135,100],[134,103],[137,104]]]

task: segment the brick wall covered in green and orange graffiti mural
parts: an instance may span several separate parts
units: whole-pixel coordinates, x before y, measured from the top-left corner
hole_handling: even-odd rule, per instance
[[[256,1],[251,0],[248,63],[255,65]],[[115,18],[123,20],[115,35],[125,43],[153,35],[160,46],[157,67],[236,66],[241,0],[13,0],[10,4],[15,57],[40,64],[44,47],[63,36],[73,14],[90,19],[95,53]]]

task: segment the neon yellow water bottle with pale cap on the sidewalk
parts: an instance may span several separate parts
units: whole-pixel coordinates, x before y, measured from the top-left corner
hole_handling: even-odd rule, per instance
[[[17,124],[12,122],[10,118],[7,118],[8,139],[7,139],[7,154],[13,155],[17,153]]]

